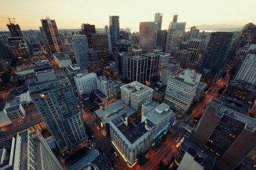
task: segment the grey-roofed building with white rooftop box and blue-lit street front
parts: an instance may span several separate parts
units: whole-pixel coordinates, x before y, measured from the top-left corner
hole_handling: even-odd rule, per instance
[[[176,116],[177,114],[172,112],[166,103],[146,102],[141,108],[141,122],[145,122],[147,126],[155,126],[154,138],[166,133]]]

